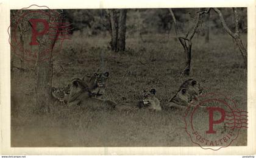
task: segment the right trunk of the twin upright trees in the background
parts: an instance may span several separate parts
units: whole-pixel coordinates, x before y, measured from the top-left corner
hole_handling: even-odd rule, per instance
[[[126,49],[126,14],[127,9],[121,9],[118,24],[118,51]]]

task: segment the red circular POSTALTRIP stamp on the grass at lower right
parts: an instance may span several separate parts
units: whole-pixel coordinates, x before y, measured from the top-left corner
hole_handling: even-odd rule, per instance
[[[247,128],[247,111],[220,94],[206,94],[185,112],[185,129],[190,139],[203,149],[218,150],[230,146],[241,128]],[[192,108],[191,108],[192,107]]]

